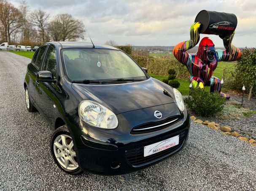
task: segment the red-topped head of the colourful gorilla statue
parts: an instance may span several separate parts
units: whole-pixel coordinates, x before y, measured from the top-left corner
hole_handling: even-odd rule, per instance
[[[197,55],[205,64],[213,62],[216,57],[213,41],[208,37],[204,37],[199,43]]]

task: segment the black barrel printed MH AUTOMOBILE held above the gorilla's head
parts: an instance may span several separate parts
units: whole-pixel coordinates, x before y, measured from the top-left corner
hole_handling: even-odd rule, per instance
[[[195,22],[202,24],[199,33],[216,34],[222,37],[229,36],[237,27],[237,17],[234,14],[210,10],[201,10]]]

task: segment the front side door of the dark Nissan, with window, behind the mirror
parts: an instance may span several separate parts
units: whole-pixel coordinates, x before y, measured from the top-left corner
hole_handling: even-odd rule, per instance
[[[40,113],[48,120],[53,122],[53,99],[57,89],[57,59],[55,47],[49,46],[45,59],[43,60],[43,67],[41,71],[50,71],[56,79],[56,82],[42,82],[36,81],[35,97],[37,106],[40,108]]]

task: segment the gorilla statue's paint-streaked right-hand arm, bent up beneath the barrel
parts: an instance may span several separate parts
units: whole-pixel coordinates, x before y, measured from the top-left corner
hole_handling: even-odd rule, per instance
[[[221,37],[221,36],[220,36]],[[241,56],[241,51],[239,48],[232,44],[232,39],[234,37],[234,32],[228,37],[221,37],[223,39],[223,44],[226,50],[216,50],[218,54],[218,61],[235,61]]]

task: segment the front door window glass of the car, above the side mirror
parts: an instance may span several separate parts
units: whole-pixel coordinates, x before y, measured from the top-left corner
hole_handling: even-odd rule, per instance
[[[43,65],[43,71],[50,71],[54,78],[57,78],[57,60],[56,50],[50,46],[46,54],[46,59]]]

